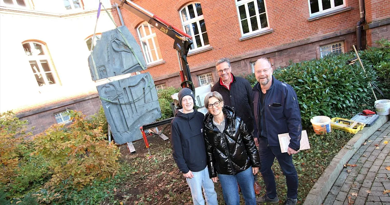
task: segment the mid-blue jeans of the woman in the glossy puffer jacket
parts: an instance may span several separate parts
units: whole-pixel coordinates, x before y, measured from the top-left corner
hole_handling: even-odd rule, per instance
[[[256,205],[255,189],[253,188],[255,181],[253,179],[252,166],[236,175],[218,174],[218,178],[222,187],[223,199],[227,205],[240,204],[237,182],[241,187],[245,205]]]

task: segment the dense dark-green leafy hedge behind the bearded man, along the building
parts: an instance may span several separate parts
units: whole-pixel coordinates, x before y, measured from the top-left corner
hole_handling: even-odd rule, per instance
[[[368,82],[377,80],[385,94],[390,90],[390,46],[388,41],[380,45],[359,53],[367,76],[358,61],[353,65],[346,64],[356,58],[352,52],[292,63],[274,71],[275,78],[293,86],[296,91],[303,127],[311,125],[313,116],[351,118],[363,109],[374,109]],[[245,78],[252,86],[257,83],[254,74]],[[378,94],[377,97],[381,99]]]

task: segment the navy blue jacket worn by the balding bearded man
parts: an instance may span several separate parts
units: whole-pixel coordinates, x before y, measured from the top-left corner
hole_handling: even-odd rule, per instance
[[[254,136],[259,138],[261,130],[266,129],[268,146],[280,146],[278,134],[289,133],[291,140],[289,147],[299,150],[301,141],[301,113],[296,93],[288,84],[282,83],[272,76],[273,83],[267,90],[264,99],[265,125],[261,125],[261,87],[257,83],[253,87],[254,93]],[[279,107],[273,103],[280,103]]]

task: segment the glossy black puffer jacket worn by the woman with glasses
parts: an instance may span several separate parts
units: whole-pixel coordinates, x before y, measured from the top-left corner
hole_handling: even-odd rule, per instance
[[[225,105],[225,130],[221,133],[213,124],[209,112],[204,117],[204,141],[210,178],[218,174],[235,175],[252,167],[260,167],[259,152],[245,123],[234,110]]]

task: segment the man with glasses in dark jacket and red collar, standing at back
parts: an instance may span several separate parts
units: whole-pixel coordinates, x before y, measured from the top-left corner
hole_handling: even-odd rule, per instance
[[[211,88],[222,95],[225,105],[234,109],[236,114],[243,119],[249,133],[253,133],[253,94],[252,86],[245,78],[234,76],[231,71],[230,60],[222,58],[216,62],[215,67],[220,76],[218,82]],[[255,142],[257,142],[255,140]],[[257,175],[254,175],[255,193],[260,193],[260,185],[257,182]]]

